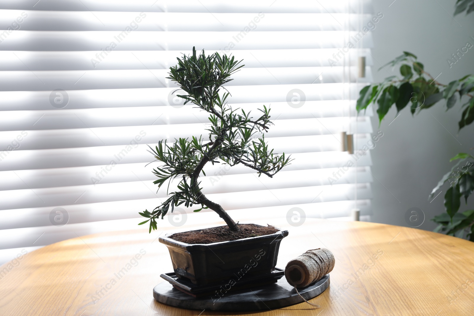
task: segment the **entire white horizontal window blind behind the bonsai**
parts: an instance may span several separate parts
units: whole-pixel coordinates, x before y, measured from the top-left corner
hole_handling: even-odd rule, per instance
[[[154,164],[145,167],[146,144],[206,135],[206,113],[183,106],[165,79],[192,46],[244,59],[229,104],[270,105],[265,139],[295,159],[273,179],[206,166],[211,200],[231,212],[370,215],[372,109],[355,111],[372,80],[372,37],[361,33],[370,1],[3,0],[0,9],[2,262],[19,249],[141,227],[137,212],[166,197]],[[341,132],[354,135],[356,154],[341,150]]]

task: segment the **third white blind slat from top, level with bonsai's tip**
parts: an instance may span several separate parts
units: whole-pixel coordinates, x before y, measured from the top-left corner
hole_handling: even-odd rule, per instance
[[[100,51],[110,50],[197,50],[225,49],[236,32],[154,32],[132,31],[118,37],[118,31],[22,31],[12,32],[2,43],[2,50],[36,51]],[[337,48],[346,45],[346,36],[356,32],[343,31],[274,31],[246,33],[233,50],[240,49],[304,49]],[[234,36],[234,37],[233,37]],[[372,47],[372,34],[364,37],[363,47]],[[239,39],[239,38],[237,38]],[[109,47],[109,49],[107,49]]]

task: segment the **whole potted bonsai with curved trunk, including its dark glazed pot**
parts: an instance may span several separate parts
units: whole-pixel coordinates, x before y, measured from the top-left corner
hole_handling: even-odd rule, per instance
[[[247,275],[271,273],[280,241],[288,232],[273,226],[236,224],[219,204],[204,195],[199,181],[201,174],[205,176],[203,167],[206,163],[243,164],[259,176],[264,174],[269,177],[290,163],[291,158],[285,157],[284,153],[280,155],[268,149],[264,135],[258,140],[253,137],[255,133],[268,131],[272,124],[270,108],[264,106],[259,109],[259,115],[254,118],[250,112],[231,108],[227,104],[230,93],[223,85],[243,67],[240,65],[242,61],[218,53],[206,56],[202,51],[197,54],[195,47],[191,56],[183,55],[177,60],[178,63],[170,67],[167,78],[185,92],[178,95],[185,99],[184,104],[190,103],[209,113],[209,139],[204,140],[202,135],[193,136],[191,140],[179,138],[173,144],[160,141],[155,149],[150,147],[150,153],[160,163],[153,170],[158,178],[154,181],[158,189],[167,181],[168,188],[173,180],[179,182],[177,190],[168,192],[170,197],[152,212],[145,210],[139,213],[147,218],[139,225],[149,222],[151,232],[157,229],[156,219],[163,219],[168,211],[173,212],[182,204],[190,208],[198,206],[194,212],[210,208],[227,226],[160,237],[160,242],[168,246],[176,275],[199,285],[216,283],[236,274],[250,257],[256,255],[265,257],[265,260],[260,261]],[[198,237],[193,239],[193,235]],[[212,237],[206,237],[209,235]],[[224,238],[220,238],[222,235]]]

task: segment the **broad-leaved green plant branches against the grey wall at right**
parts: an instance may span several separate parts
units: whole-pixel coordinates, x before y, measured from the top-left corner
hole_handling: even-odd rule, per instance
[[[440,83],[424,70],[423,64],[417,60],[417,56],[409,52],[403,52],[402,55],[386,65],[400,66],[401,76],[388,77],[381,83],[365,86],[360,91],[357,100],[357,111],[367,108],[370,103],[377,103],[377,113],[381,122],[392,105],[395,105],[397,112],[399,112],[410,104],[410,112],[414,114],[415,112],[419,113],[422,109],[431,108],[438,101],[445,99],[447,110],[454,108],[458,101],[462,104],[461,118],[458,123],[459,130],[473,123],[473,75],[466,75],[448,84]],[[464,101],[461,102],[462,99]],[[474,241],[474,209],[458,213],[461,197],[464,196],[467,204],[467,198],[474,190],[474,156],[468,153],[459,153],[451,159],[451,161],[454,160],[458,160],[458,162],[451,171],[443,176],[428,197],[431,199],[445,182],[449,182],[450,188],[446,191],[444,199],[446,213],[440,214],[432,220],[438,223],[436,232],[446,232],[448,235],[458,237],[466,235],[466,238]]]

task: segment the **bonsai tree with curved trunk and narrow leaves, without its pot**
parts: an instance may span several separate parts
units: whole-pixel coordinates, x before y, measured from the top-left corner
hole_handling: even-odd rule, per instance
[[[191,103],[208,112],[209,115],[209,140],[204,141],[203,136],[192,136],[192,139],[175,139],[173,144],[167,144],[166,140],[158,142],[155,149],[150,147],[155,156],[155,161],[162,163],[153,169],[158,178],[153,183],[158,184],[158,190],[168,181],[170,183],[178,178],[176,191],[166,199],[153,212],[145,210],[139,214],[148,218],[138,224],[150,222],[150,229],[157,229],[156,219],[168,213],[171,207],[184,204],[186,207],[200,205],[201,208],[194,210],[199,212],[203,208],[215,211],[228,225],[232,231],[237,231],[235,221],[217,203],[208,199],[203,193],[199,176],[206,163],[227,163],[230,166],[243,164],[254,169],[258,176],[262,174],[272,178],[291,160],[273,153],[265,143],[264,135],[255,141],[255,133],[267,132],[270,125],[270,108],[258,109],[261,113],[257,118],[251,117],[250,111],[233,109],[227,104],[230,93],[223,87],[232,79],[230,76],[244,65],[234,57],[214,53],[206,56],[204,50],[196,54],[195,47],[192,48],[192,56],[183,55],[177,58],[178,64],[170,67],[170,76],[167,79],[174,81],[186,93],[178,95],[185,99],[184,104]],[[178,89],[179,90],[179,89]],[[167,191],[169,194],[169,192]]]

